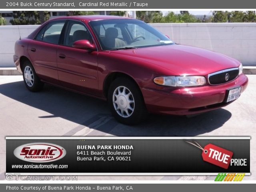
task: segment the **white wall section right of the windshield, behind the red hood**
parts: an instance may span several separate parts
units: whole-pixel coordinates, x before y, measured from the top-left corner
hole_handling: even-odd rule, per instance
[[[256,66],[256,23],[151,24],[179,44],[223,53]]]

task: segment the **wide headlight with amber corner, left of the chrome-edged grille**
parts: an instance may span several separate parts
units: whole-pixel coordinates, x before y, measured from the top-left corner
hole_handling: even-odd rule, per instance
[[[167,76],[156,77],[154,82],[158,85],[172,87],[202,86],[206,83],[204,76]]]

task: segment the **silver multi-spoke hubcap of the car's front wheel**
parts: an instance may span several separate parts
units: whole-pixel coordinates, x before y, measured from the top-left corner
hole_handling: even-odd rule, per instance
[[[135,107],[132,92],[125,86],[117,87],[113,93],[113,105],[118,115],[130,117]]]

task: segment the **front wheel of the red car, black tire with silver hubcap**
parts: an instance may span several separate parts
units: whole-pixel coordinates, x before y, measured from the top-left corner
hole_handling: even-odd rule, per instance
[[[114,118],[122,124],[138,124],[148,114],[140,89],[129,78],[116,78],[111,83],[108,104]]]

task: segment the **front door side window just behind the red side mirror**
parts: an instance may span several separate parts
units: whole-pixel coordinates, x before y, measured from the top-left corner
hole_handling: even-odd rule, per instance
[[[92,42],[92,37],[84,24],[70,21],[68,30],[66,32],[64,45],[72,46],[73,43],[78,40],[89,40]]]

